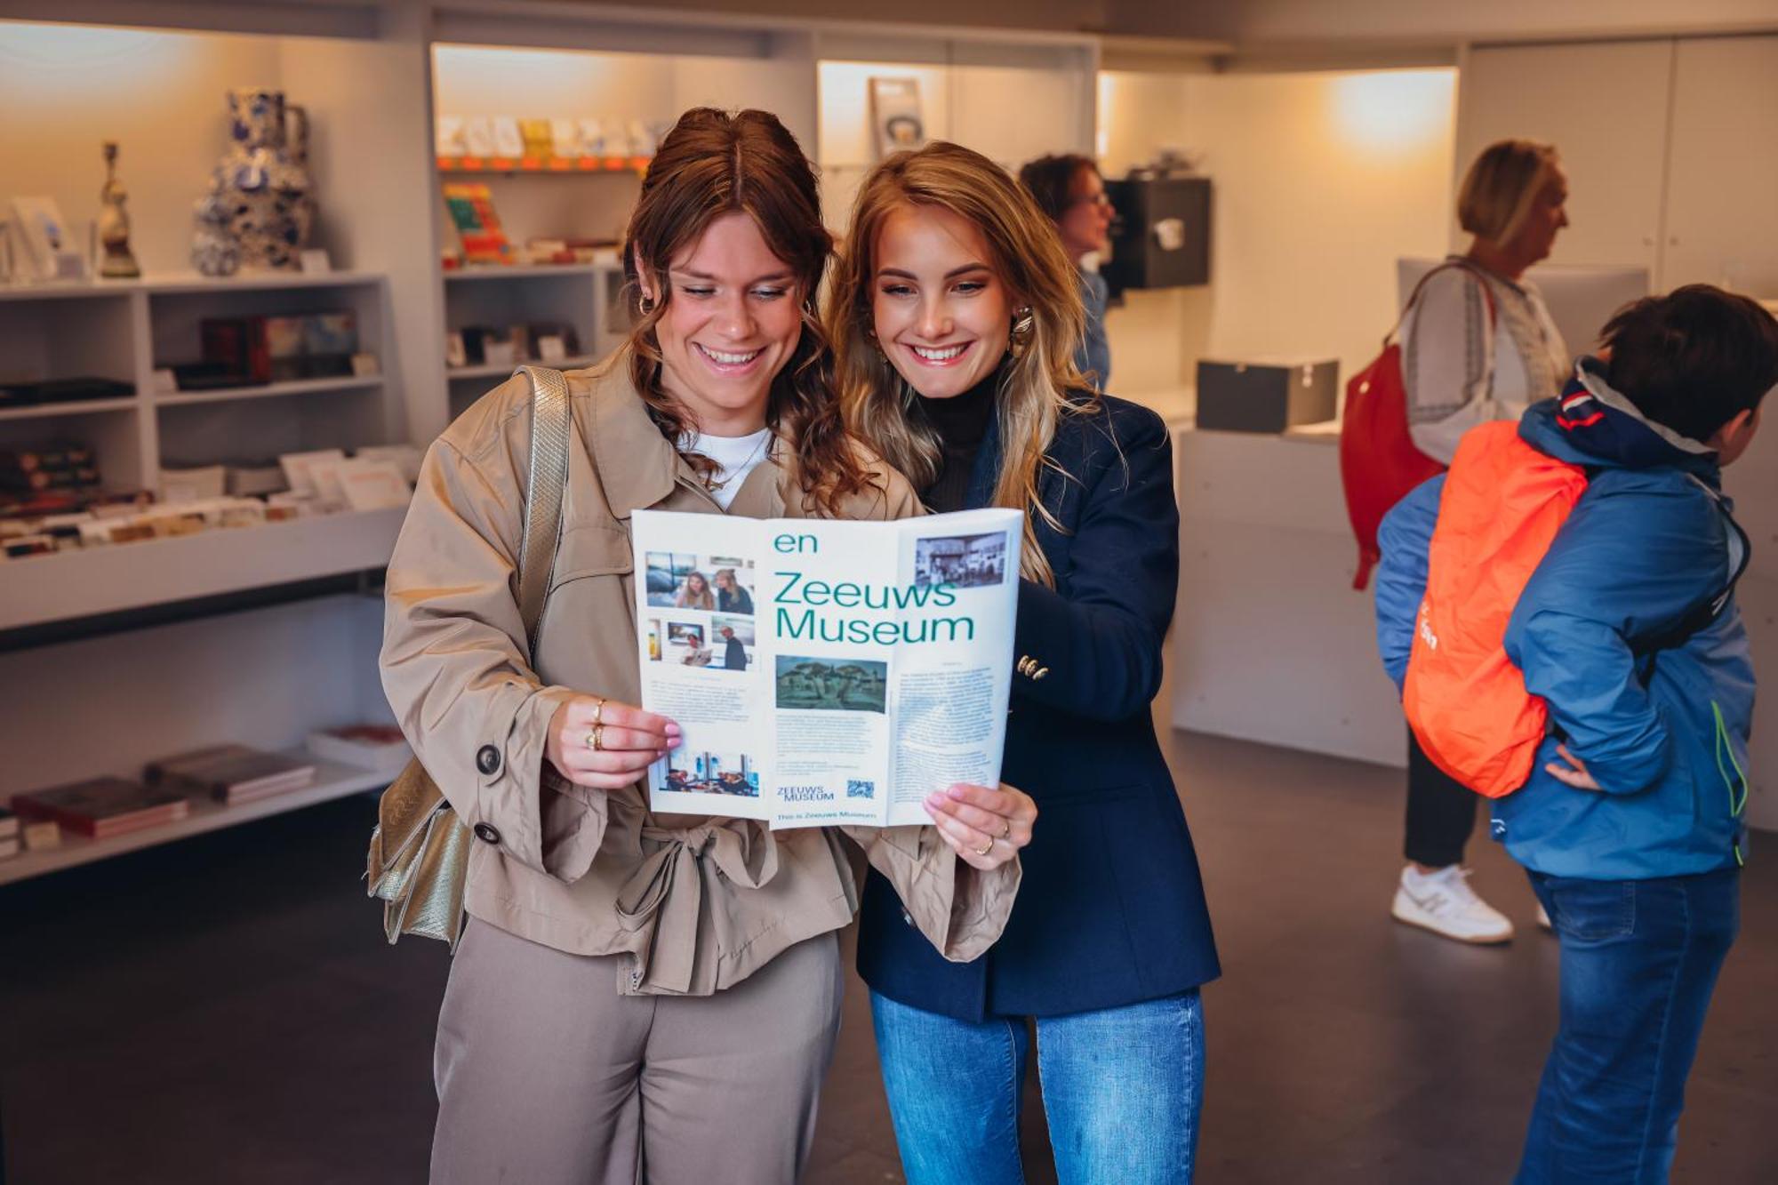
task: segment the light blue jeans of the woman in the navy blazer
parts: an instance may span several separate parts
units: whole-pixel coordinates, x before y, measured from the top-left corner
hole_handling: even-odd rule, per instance
[[[871,993],[909,1185],[1021,1185],[1026,1020],[951,1020]],[[1204,1105],[1197,989],[1037,1018],[1037,1073],[1061,1185],[1184,1185]]]

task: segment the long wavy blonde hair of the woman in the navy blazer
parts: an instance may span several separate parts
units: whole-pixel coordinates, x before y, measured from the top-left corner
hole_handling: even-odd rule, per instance
[[[1086,310],[1054,222],[1019,181],[981,153],[935,141],[919,151],[889,157],[859,187],[825,317],[846,427],[901,470],[916,489],[937,479],[939,436],[917,413],[910,415],[914,388],[871,336],[877,240],[889,215],[909,206],[949,210],[974,226],[989,251],[987,265],[1012,295],[1015,322],[1029,308],[1031,327],[1013,335],[1013,358],[1003,368],[996,399],[1001,466],[994,505],[1026,512],[1019,573],[1054,585],[1031,516],[1060,530],[1044,507],[1038,477],[1044,470],[1063,472],[1045,455],[1061,416],[1097,406],[1092,384],[1074,368]]]

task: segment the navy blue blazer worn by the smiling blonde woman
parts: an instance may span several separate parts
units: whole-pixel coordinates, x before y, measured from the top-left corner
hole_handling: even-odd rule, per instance
[[[967,507],[989,505],[997,425]],[[1022,580],[1001,778],[1037,799],[1024,881],[999,943],[948,963],[871,872],[859,975],[891,1000],[958,1020],[1060,1016],[1173,995],[1221,973],[1198,859],[1149,705],[1179,585],[1172,439],[1161,418],[1101,397],[1063,416],[1033,518],[1056,587]]]

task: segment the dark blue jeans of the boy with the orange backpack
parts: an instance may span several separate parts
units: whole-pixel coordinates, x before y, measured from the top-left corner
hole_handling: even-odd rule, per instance
[[[1517,1181],[1659,1185],[1716,973],[1741,923],[1739,872],[1529,875],[1561,939],[1561,1025]]]

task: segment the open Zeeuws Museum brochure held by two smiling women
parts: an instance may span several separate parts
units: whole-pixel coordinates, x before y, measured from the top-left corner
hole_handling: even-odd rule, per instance
[[[685,737],[649,770],[656,811],[891,827],[999,781],[1019,511],[631,527],[642,706]]]

